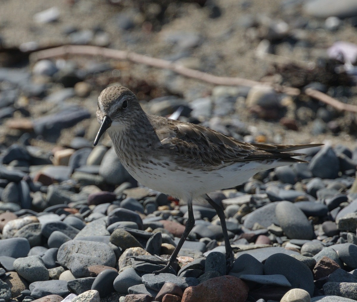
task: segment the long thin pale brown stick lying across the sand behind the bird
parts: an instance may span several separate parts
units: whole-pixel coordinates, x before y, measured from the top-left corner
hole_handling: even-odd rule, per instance
[[[169,69],[175,71],[178,74],[187,76],[189,78],[198,79],[215,85],[248,86],[248,87],[252,87],[255,85],[270,85],[273,86],[276,90],[284,92],[288,95],[301,94],[301,91],[298,88],[273,85],[273,84],[262,83],[262,82],[243,79],[243,78],[216,76],[199,70],[187,68],[185,66],[182,66],[181,64],[172,63],[171,61],[167,61],[164,59],[157,59],[147,55],[141,55],[130,51],[116,50],[116,49],[104,48],[99,46],[64,45],[55,48],[39,50],[30,55],[30,60],[32,62],[36,62],[42,59],[49,59],[56,56],[65,56],[65,55],[104,56],[106,58],[111,58],[116,60],[128,60],[134,63],[146,64],[161,69]],[[356,105],[341,103],[340,101],[331,98],[331,96],[328,96],[327,94],[317,91],[315,89],[308,88],[304,91],[304,93],[312,98],[318,99],[321,102],[331,105],[337,110],[357,112]]]

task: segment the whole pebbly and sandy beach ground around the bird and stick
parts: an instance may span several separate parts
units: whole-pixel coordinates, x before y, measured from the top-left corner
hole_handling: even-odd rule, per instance
[[[0,302],[356,301],[356,113],[303,93],[357,104],[355,1],[143,2],[4,2]],[[66,44],[301,93],[214,85],[105,55],[39,59]],[[245,142],[323,143],[302,150],[307,163],[208,194],[224,208],[235,252],[228,273],[220,219],[201,200],[177,266],[155,275],[163,266],[145,262],[174,251],[187,205],[132,178],[107,134],[93,146],[100,91],[118,84],[148,113]]]

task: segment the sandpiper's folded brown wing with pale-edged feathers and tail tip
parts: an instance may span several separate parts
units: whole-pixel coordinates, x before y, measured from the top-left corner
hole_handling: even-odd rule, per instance
[[[171,151],[172,160],[180,165],[194,164],[196,167],[219,167],[234,162],[269,159],[304,162],[291,158],[303,154],[285,152],[320,145],[250,144],[200,125],[174,120],[166,120],[162,127],[156,129],[156,134],[162,148]]]

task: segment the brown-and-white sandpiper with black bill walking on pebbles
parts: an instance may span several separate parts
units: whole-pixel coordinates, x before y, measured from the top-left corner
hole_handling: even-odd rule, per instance
[[[240,185],[262,170],[304,163],[294,158],[303,154],[291,151],[321,145],[250,144],[200,125],[146,114],[134,93],[122,86],[110,86],[101,92],[97,119],[101,127],[94,145],[107,130],[122,165],[139,183],[188,204],[185,231],[168,260],[154,261],[166,264],[155,274],[167,271],[176,261],[193,228],[194,198],[207,200],[220,218],[228,270],[234,255],[225,213],[207,193]]]

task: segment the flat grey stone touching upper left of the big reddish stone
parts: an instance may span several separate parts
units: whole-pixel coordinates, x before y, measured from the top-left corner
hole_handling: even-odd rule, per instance
[[[177,284],[182,290],[189,287],[189,286],[195,286],[198,284],[198,280],[196,278],[188,277],[178,277],[175,276],[174,274],[168,274],[168,273],[161,273],[158,275],[155,274],[145,274],[144,276],[141,277],[142,283],[145,284],[145,286],[154,289],[155,291],[159,292],[161,287],[166,283],[166,282],[172,282]]]

